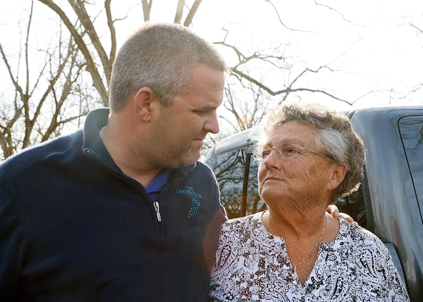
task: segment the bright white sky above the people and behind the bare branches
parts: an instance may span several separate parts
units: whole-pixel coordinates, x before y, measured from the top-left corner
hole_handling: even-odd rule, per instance
[[[102,3],[102,1],[98,1]],[[114,13],[140,1],[112,1]],[[190,2],[190,1],[188,1]],[[423,103],[423,89],[407,94],[423,82],[423,34],[409,23],[423,28],[423,1],[419,0],[273,0],[274,10],[266,0],[203,0],[195,16],[193,29],[212,42],[225,37],[245,49],[263,49],[268,45],[289,44],[285,54],[299,72],[302,68],[329,65],[319,76],[307,77],[301,84],[325,89],[357,107],[411,105]],[[23,18],[29,0],[9,1],[0,10],[1,42],[10,41],[12,51],[18,43],[18,20]],[[44,5],[36,3],[37,9]],[[152,20],[172,21],[176,1],[154,0]],[[123,12],[121,12],[123,14]],[[140,7],[133,8],[124,23],[118,23],[118,43],[140,26]],[[34,29],[51,37],[48,13],[39,13]],[[279,22],[283,21],[283,26]],[[287,29],[288,27],[289,29]],[[16,46],[17,48],[17,46]],[[227,54],[231,63],[231,54]],[[281,75],[273,77],[277,86]],[[10,82],[0,65],[1,82]],[[327,103],[339,110],[350,108],[324,96],[303,94],[305,99]]]

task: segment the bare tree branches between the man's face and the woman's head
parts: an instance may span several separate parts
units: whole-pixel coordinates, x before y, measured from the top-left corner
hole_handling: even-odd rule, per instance
[[[329,96],[334,101],[347,103],[324,89],[302,86],[301,80],[316,75],[321,70],[335,72],[329,65],[321,65],[313,70],[294,68],[290,58],[283,54],[287,45],[277,45],[257,51],[241,51],[238,47],[217,42],[233,51],[237,63],[231,68],[231,77],[225,89],[223,108],[226,115],[221,115],[231,126],[233,132],[246,130],[259,125],[273,106],[286,101],[288,96],[298,92],[312,92]],[[275,80],[276,79],[276,80]]]

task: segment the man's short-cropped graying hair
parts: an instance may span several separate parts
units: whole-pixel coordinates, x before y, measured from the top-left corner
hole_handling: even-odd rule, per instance
[[[192,68],[204,64],[226,71],[226,63],[214,44],[188,27],[152,23],[132,34],[114,61],[110,81],[111,111],[120,111],[140,88],[149,87],[164,106],[173,96],[189,92]]]

